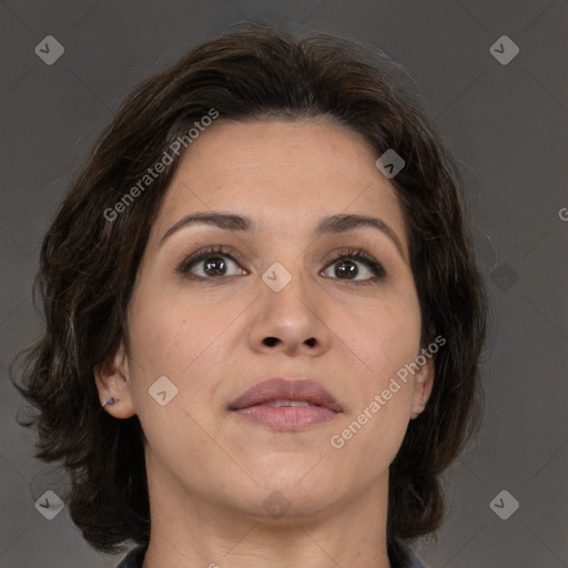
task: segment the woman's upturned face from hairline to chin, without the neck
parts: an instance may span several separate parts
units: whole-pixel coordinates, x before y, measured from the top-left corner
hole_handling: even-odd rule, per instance
[[[377,158],[324,120],[219,121],[192,143],[151,227],[106,408],[138,414],[151,488],[254,515],[325,514],[385,488],[432,365],[394,389],[420,353],[420,314]],[[196,213],[247,221],[181,222]],[[233,409],[274,377],[307,403],[316,387],[295,382],[312,381],[334,410],[277,407],[287,397],[267,389]]]

